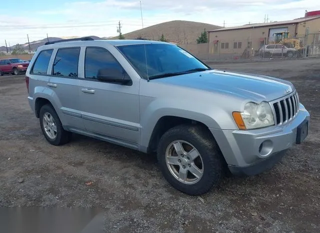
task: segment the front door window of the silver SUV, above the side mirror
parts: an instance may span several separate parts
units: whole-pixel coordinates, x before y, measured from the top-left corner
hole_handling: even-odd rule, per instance
[[[87,47],[84,59],[84,77],[96,79],[100,70],[118,69],[123,71],[119,62],[109,51],[100,47]]]

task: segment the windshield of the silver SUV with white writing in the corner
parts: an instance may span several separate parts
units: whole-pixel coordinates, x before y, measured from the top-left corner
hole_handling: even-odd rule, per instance
[[[173,44],[131,44],[118,46],[118,49],[144,79],[209,69],[194,56]]]

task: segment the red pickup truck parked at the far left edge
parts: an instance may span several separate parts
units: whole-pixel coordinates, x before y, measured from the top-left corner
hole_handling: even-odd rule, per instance
[[[18,58],[9,58],[0,60],[0,76],[5,73],[12,73],[18,75],[20,73],[25,73],[29,62],[23,62]]]

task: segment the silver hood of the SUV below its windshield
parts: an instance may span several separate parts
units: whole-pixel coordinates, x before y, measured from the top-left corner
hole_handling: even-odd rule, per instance
[[[249,98],[252,101],[270,101],[294,90],[291,82],[279,78],[246,73],[207,70],[151,81],[220,92]]]

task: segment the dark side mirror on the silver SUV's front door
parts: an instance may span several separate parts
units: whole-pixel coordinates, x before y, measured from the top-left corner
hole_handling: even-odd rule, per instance
[[[105,82],[119,83],[129,85],[132,81],[128,74],[123,70],[115,68],[102,68],[98,70],[97,79]]]

